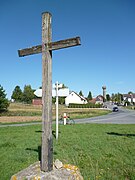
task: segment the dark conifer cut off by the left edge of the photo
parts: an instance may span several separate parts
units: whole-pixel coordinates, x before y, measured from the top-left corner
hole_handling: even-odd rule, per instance
[[[9,106],[8,99],[6,99],[5,90],[0,85],[0,112],[7,110]]]

